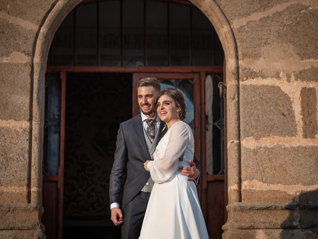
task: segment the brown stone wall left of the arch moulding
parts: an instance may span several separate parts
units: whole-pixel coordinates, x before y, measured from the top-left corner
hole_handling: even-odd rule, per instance
[[[53,0],[0,1],[0,238],[42,238],[31,202],[33,57]],[[42,230],[41,230],[42,229]]]

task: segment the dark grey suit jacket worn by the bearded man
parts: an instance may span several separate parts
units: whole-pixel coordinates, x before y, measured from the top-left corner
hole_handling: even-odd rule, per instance
[[[157,142],[166,133],[164,122],[160,120]],[[157,145],[156,145],[157,146]],[[144,168],[144,162],[150,160],[144,136],[141,115],[120,124],[117,134],[115,159],[110,174],[110,204],[121,203],[123,209],[144,187],[150,173]],[[195,159],[199,168],[199,162]]]

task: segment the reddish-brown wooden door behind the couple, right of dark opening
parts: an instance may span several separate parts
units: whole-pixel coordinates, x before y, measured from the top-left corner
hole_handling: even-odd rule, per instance
[[[200,162],[201,175],[200,183],[197,186],[200,204],[203,212],[203,216],[206,221],[208,233],[210,239],[221,239],[222,238],[222,226],[225,223],[225,176],[224,168],[214,175],[207,172],[207,158],[206,158],[206,134],[207,131],[207,116],[206,116],[206,72],[198,73],[134,73],[133,74],[133,115],[139,113],[139,107],[137,102],[137,82],[144,77],[157,77],[160,81],[161,89],[167,86],[173,87],[181,91],[187,104],[187,114],[193,114],[193,118],[185,119],[194,131],[195,138],[195,156]],[[216,81],[217,79],[212,79]],[[222,79],[218,79],[219,81]],[[189,87],[188,91],[185,92],[184,88],[180,87],[180,84],[187,82],[192,83],[192,99],[189,99]],[[219,82],[214,84],[217,86]],[[169,85],[170,84],[170,85]],[[218,90],[217,90],[218,91]],[[218,96],[215,96],[218,98]],[[215,98],[214,97],[214,98]],[[211,99],[212,100],[212,99]],[[223,102],[220,101],[220,110],[223,112]],[[191,109],[193,107],[193,112]],[[190,108],[190,112],[189,112]],[[222,120],[218,120],[216,125],[222,124]],[[221,128],[223,129],[223,128]],[[211,145],[212,147],[212,145]],[[224,155],[223,155],[224,158]],[[223,160],[223,159],[222,159]],[[224,161],[221,162],[221,164]]]

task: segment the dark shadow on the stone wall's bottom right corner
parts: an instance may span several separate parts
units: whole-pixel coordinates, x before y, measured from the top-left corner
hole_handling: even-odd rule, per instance
[[[280,239],[318,239],[318,190],[295,196],[286,209]]]

